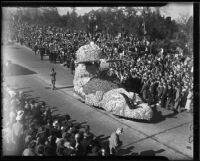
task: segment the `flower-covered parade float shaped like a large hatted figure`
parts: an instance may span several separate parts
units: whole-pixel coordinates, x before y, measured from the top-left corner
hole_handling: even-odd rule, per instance
[[[81,46],[76,52],[74,96],[117,116],[150,121],[153,111],[148,104],[137,93],[127,92],[112,81],[102,69],[109,71],[109,60],[101,59],[100,48],[93,42]]]

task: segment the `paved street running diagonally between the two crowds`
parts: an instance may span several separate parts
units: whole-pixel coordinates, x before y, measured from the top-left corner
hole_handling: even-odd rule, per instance
[[[48,57],[43,61],[28,48],[19,45],[2,46],[3,61],[11,60],[23,69],[14,76],[5,77],[5,82],[16,89],[26,91],[31,97],[45,101],[54,107],[55,115],[70,114],[73,120],[88,124],[96,136],[106,140],[118,127],[124,128],[121,136],[123,147],[121,155],[166,156],[169,159],[192,159],[193,145],[188,143],[193,122],[190,113],[173,112],[159,109],[162,117],[153,123],[142,123],[118,118],[106,111],[89,107],[73,97],[73,75],[70,70],[51,64]],[[51,90],[50,69],[57,72],[55,91]],[[17,70],[16,70],[17,71]]]

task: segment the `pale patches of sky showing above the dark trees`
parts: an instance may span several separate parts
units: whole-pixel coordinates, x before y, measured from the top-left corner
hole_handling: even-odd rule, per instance
[[[97,10],[101,7],[76,7],[76,12],[79,15],[84,15],[85,13],[90,12],[91,10]],[[67,11],[71,12],[69,7],[57,7],[60,15],[66,14]],[[180,14],[189,16],[193,15],[193,3],[169,3],[164,7],[160,7],[161,15],[170,16],[172,19],[177,20]]]

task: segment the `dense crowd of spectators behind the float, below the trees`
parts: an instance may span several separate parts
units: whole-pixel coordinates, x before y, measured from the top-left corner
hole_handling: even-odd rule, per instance
[[[102,50],[102,58],[117,60],[110,63],[110,71],[128,91],[137,92],[150,106],[181,112],[192,110],[193,57],[177,50],[154,48],[155,43],[134,35],[110,36],[82,31],[70,32],[52,26],[19,24],[13,26],[16,39],[35,53],[49,55],[67,68],[75,69],[77,49],[94,41]]]

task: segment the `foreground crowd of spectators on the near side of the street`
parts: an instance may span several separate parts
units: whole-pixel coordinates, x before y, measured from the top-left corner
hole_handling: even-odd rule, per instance
[[[72,121],[68,114],[56,118],[45,102],[37,102],[22,91],[7,86],[3,94],[4,155],[109,155],[88,125]]]

